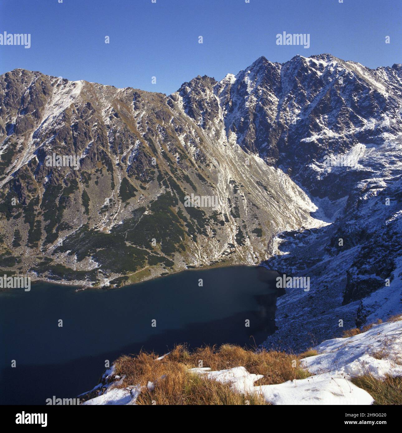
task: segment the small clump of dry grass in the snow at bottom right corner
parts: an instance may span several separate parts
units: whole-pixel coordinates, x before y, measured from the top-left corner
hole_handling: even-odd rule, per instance
[[[374,404],[402,404],[402,376],[387,376],[385,380],[379,380],[364,375],[353,378],[352,382],[366,390],[374,398]]]

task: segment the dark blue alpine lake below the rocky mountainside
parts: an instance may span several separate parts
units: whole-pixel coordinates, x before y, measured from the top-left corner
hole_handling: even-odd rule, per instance
[[[112,290],[38,283],[29,292],[2,291],[0,404],[75,397],[97,384],[106,359],[141,349],[162,355],[175,343],[259,345],[275,330],[278,275],[230,266]]]

